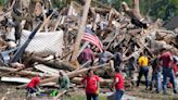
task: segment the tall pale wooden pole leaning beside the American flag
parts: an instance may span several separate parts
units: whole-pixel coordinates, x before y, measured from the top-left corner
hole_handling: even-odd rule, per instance
[[[82,34],[85,32],[90,3],[91,3],[91,0],[86,0],[86,4],[85,4],[84,11],[82,11],[82,17],[80,21],[80,26],[79,26],[77,38],[76,38],[74,49],[73,49],[74,51],[73,51],[72,62],[77,60],[77,54],[79,52],[78,50],[79,50],[79,46],[81,42]]]

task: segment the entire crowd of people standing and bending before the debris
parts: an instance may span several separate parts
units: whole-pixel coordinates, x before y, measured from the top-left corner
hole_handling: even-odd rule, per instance
[[[130,52],[128,52],[130,54]],[[152,90],[155,86],[155,92],[160,93],[163,90],[163,93],[167,93],[167,87],[173,86],[174,93],[177,93],[177,84],[176,76],[178,75],[178,57],[174,54],[171,51],[162,49],[161,51],[154,51],[154,57],[149,58],[145,53],[141,52],[139,58],[131,57],[129,59],[123,58],[123,50],[118,48],[116,52],[111,53],[103,49],[102,53],[94,54],[91,47],[88,46],[79,57],[85,64],[88,61],[91,61],[86,67],[91,67],[94,63],[94,59],[99,58],[99,64],[107,63],[110,60],[114,61],[114,70],[113,76],[113,87],[115,88],[114,100],[120,100],[122,96],[125,92],[125,79],[123,73],[128,72],[127,77],[134,78],[136,71],[138,70],[138,79],[136,82],[136,88],[139,88],[141,77],[145,77],[145,90]],[[122,68],[120,64],[125,64],[125,67]],[[152,68],[151,68],[152,66]],[[127,67],[127,68],[126,68]],[[125,70],[126,68],[126,70]],[[149,78],[149,72],[152,72],[151,79]],[[88,73],[84,76],[81,83],[86,89],[87,100],[98,100],[98,96],[100,92],[100,77],[94,74],[96,72],[89,70]],[[60,71],[59,85],[60,89],[68,89],[69,88],[69,78],[68,76]],[[163,78],[162,78],[163,76]],[[39,85],[40,78],[39,76],[34,77],[30,83],[27,85],[27,91],[30,93],[37,91],[37,87]],[[132,82],[135,83],[135,82]],[[135,85],[135,84],[134,84]]]

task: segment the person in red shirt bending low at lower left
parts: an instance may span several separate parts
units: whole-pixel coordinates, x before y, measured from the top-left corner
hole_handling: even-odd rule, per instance
[[[39,75],[31,78],[31,80],[27,84],[26,89],[28,93],[37,92],[39,89],[40,77]]]

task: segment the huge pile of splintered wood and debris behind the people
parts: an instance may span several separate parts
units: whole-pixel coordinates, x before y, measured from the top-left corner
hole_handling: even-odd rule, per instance
[[[54,9],[50,0],[9,0],[0,14],[1,80],[28,83],[40,74],[46,77],[41,84],[55,83],[59,70],[64,70],[73,83],[79,83],[77,76],[89,68],[112,70],[111,63],[98,65],[98,60],[92,67],[77,62],[89,43],[96,53],[103,48],[111,52],[122,48],[126,62],[131,57],[139,58],[140,52],[152,59],[153,52],[163,48],[178,54],[178,34],[164,28],[161,20],[145,20],[140,14],[139,0],[132,1],[132,9],[123,2],[124,13],[119,13],[91,0],[71,1],[62,10]],[[86,33],[98,36],[96,41],[86,39]],[[105,79],[103,84],[110,82]]]

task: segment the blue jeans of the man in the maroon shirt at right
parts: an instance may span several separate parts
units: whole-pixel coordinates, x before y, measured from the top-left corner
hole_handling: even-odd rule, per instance
[[[163,92],[166,93],[167,90],[167,77],[170,78],[170,83],[173,84],[173,90],[176,93],[176,83],[175,83],[175,74],[171,67],[163,67]]]

